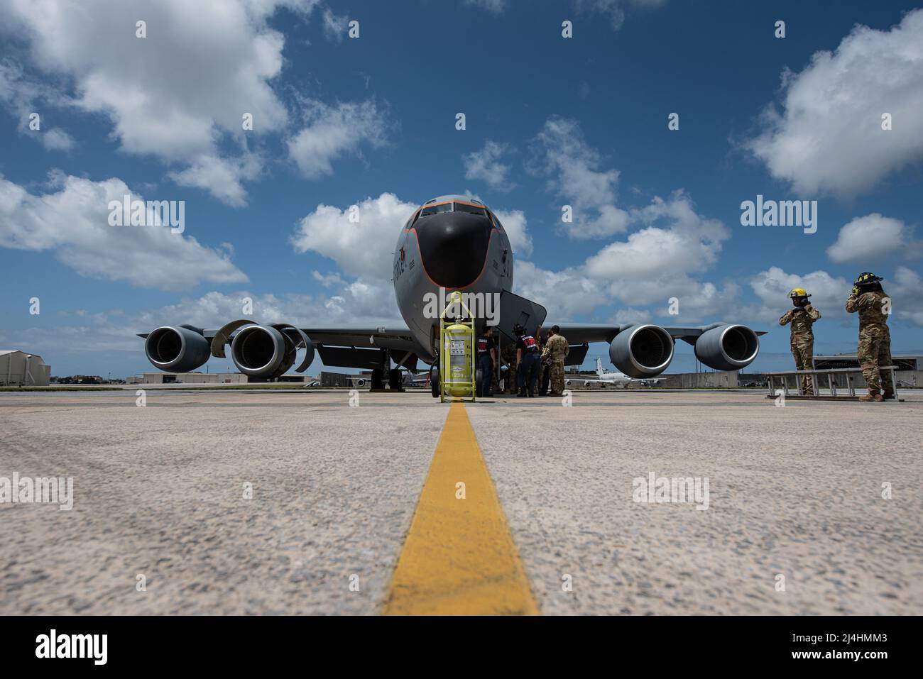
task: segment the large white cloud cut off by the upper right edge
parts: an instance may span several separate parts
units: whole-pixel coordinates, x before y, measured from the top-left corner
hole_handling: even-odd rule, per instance
[[[893,129],[881,129],[891,113]],[[746,147],[802,193],[853,196],[923,159],[923,10],[891,30],[857,26],[800,73]]]

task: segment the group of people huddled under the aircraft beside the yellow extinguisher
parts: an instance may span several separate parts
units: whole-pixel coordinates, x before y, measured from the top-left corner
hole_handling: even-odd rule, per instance
[[[500,358],[506,367],[502,379],[504,389],[521,398],[535,396],[560,396],[564,393],[564,359],[569,353],[568,340],[561,335],[561,328],[553,326],[543,342],[542,328],[534,335],[513,326],[514,343],[506,343],[500,350]],[[477,396],[485,398],[499,390],[500,375],[497,371],[497,342],[493,326],[485,325],[477,339],[477,367],[481,372]]]

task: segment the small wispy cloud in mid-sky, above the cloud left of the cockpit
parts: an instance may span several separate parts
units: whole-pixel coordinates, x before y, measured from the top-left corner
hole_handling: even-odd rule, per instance
[[[386,113],[374,101],[329,106],[303,101],[306,127],[288,141],[289,156],[309,179],[333,173],[331,161],[358,153],[364,143],[384,146]]]

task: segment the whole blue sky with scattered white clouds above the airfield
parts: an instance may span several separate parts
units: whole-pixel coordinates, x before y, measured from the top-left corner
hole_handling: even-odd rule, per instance
[[[771,330],[753,368],[783,369],[785,292],[813,293],[816,353],[855,351],[843,304],[872,270],[893,351],[923,351],[914,3],[52,6],[0,1],[0,345],[54,375],[148,370],[135,332],[245,297],[258,320],[398,320],[398,229],[446,193],[500,211],[549,320],[744,322]],[[109,226],[125,193],[185,200],[185,231]],[[758,194],[817,200],[817,232],[741,226]]]

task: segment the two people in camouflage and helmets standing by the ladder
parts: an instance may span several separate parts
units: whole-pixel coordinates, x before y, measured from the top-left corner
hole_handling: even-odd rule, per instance
[[[888,316],[891,314],[891,298],[881,288],[880,276],[869,271],[859,274],[853,291],[846,299],[846,311],[859,315],[859,342],[857,358],[862,366],[869,393],[861,401],[880,401],[894,398],[894,385],[890,371],[880,367],[891,365],[891,332]],[[821,312],[809,303],[809,293],[796,288],[788,293],[795,308],[779,318],[779,325],[791,325],[792,356],[797,370],[812,370],[814,367],[814,323]],[[817,396],[811,375],[802,375],[800,393]]]

